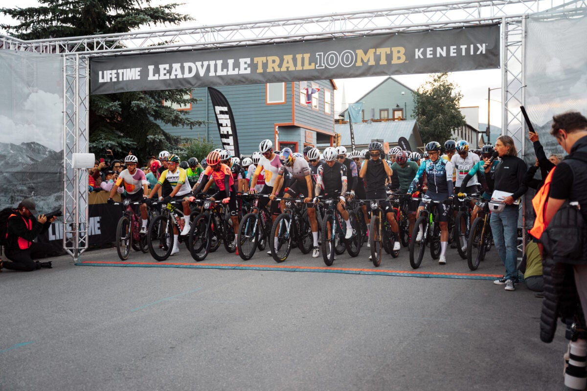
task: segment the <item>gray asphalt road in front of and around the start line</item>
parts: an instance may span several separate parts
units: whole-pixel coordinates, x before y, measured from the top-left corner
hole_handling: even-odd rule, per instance
[[[194,264],[180,248],[162,263],[129,261]],[[367,256],[332,268],[375,270]],[[456,250],[447,259],[427,254],[419,271],[470,273]],[[80,260],[121,264],[116,249]],[[245,263],[222,247],[198,266],[259,270],[53,264],[0,274],[2,391],[563,387],[564,328],[539,340],[542,300],[523,283],[265,270],[277,265],[265,253]],[[324,266],[297,249],[279,265]],[[411,270],[407,250],[379,270]],[[475,273],[502,271],[491,250]]]

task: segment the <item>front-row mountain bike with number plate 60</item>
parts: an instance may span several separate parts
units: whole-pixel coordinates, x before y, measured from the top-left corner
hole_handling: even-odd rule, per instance
[[[271,227],[271,234],[269,234],[269,249],[271,249],[271,256],[276,262],[283,262],[287,259],[293,243],[297,244],[302,254],[308,254],[313,244],[312,228],[307,217],[303,217],[303,212],[306,212],[303,195],[297,199],[276,198],[274,202],[281,200],[284,200],[284,211],[275,219]],[[277,243],[275,243],[275,238]]]

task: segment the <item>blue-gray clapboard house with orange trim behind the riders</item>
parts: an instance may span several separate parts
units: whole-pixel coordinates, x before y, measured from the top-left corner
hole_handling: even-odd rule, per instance
[[[224,94],[232,108],[237,125],[239,149],[242,155],[257,151],[259,142],[269,138],[279,149],[302,151],[305,145],[333,145],[334,90],[332,80],[291,81],[286,83],[244,84],[215,87]],[[306,88],[319,89],[306,103]],[[220,145],[220,135],[208,91],[194,89],[200,99],[188,111],[194,119],[208,121],[201,127],[172,127],[162,124],[166,132],[187,138],[206,138]]]

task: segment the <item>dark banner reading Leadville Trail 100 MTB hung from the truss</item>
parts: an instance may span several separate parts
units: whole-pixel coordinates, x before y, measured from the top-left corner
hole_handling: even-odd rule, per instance
[[[90,93],[456,72],[500,66],[500,25],[93,57]]]

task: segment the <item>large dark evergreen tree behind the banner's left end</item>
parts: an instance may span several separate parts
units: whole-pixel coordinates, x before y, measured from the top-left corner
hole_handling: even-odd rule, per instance
[[[124,33],[154,25],[177,25],[193,18],[174,12],[177,3],[151,6],[150,0],[41,0],[41,6],[0,8],[20,23],[0,25],[19,39],[46,39]],[[129,151],[144,161],[167,149],[174,152],[180,139],[163,131],[156,121],[173,126],[203,124],[166,103],[195,104],[189,89],[133,91],[90,96],[90,152],[115,157]]]

